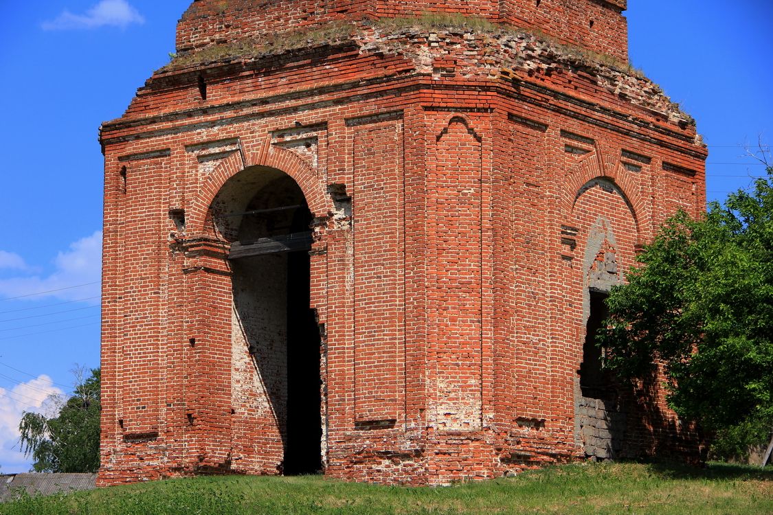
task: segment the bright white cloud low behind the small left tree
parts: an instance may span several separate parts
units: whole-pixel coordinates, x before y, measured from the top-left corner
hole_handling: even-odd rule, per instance
[[[57,402],[50,395],[63,395],[47,375],[16,385],[11,390],[0,388],[0,463],[2,473],[26,472],[29,459],[19,447],[19,422],[23,412],[56,415]]]

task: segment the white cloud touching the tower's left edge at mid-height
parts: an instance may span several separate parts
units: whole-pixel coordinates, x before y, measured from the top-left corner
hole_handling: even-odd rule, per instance
[[[23,262],[23,260],[22,260]],[[0,279],[0,299],[22,296],[19,300],[40,300],[53,297],[77,300],[99,296],[102,263],[102,232],[97,231],[59,252],[54,260],[55,270],[48,276],[29,275]],[[72,288],[71,286],[79,286]],[[42,293],[32,295],[30,293]],[[93,299],[98,303],[98,299]]]

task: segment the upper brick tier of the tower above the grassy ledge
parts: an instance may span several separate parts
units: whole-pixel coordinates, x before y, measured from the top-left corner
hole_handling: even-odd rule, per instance
[[[177,51],[342,19],[455,12],[539,29],[562,42],[628,59],[625,0],[196,0],[182,15]]]

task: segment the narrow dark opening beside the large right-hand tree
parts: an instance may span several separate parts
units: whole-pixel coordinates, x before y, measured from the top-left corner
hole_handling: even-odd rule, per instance
[[[611,381],[608,372],[602,368],[604,353],[598,346],[598,330],[609,316],[604,302],[608,293],[591,290],[591,308],[585,327],[585,341],[580,364],[580,388],[583,397],[608,398],[611,394]]]

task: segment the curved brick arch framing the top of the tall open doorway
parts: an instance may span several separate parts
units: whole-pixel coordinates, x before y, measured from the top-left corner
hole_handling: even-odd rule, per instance
[[[317,178],[316,171],[292,151],[266,144],[263,148],[246,149],[243,153],[233,152],[217,165],[204,181],[190,210],[189,225],[192,233],[206,232],[209,206],[226,181],[253,166],[274,168],[293,178],[303,191],[308,208],[315,217],[322,218],[332,212],[332,202],[329,195],[325,195],[325,188]]]

